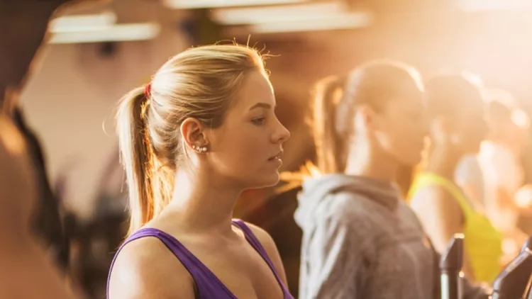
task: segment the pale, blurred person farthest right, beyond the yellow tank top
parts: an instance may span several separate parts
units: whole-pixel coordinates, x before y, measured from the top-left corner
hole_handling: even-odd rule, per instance
[[[527,239],[518,228],[521,208],[514,197],[524,181],[521,156],[526,147],[528,117],[516,108],[510,94],[492,94],[494,98],[487,104],[487,138],[478,154],[462,159],[455,178],[482,203],[486,215],[505,237],[505,252],[513,257]]]

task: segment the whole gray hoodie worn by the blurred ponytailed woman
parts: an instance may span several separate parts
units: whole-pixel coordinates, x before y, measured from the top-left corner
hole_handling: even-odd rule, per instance
[[[439,256],[395,184],[327,174],[304,181],[298,201],[299,298],[439,297]],[[464,298],[488,297],[464,281]]]

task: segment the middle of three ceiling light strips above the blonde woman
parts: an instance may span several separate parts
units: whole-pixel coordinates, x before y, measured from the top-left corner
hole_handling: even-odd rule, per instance
[[[338,2],[272,6],[261,8],[216,9],[211,18],[223,25],[273,23],[287,21],[319,21],[345,13],[345,6]]]

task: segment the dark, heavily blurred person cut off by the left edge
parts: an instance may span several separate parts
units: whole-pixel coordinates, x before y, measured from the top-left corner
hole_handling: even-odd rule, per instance
[[[45,43],[48,21],[72,2],[0,0],[0,298],[71,298],[65,278],[34,235],[35,217],[42,216],[35,208],[43,207],[44,165],[16,106]]]

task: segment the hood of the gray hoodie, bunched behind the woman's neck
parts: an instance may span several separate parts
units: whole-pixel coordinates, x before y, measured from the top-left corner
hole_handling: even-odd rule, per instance
[[[368,198],[390,208],[397,206],[400,196],[399,189],[390,181],[345,174],[325,174],[306,179],[302,187],[298,196],[299,205],[294,214],[294,219],[301,228],[313,221],[315,213],[321,213],[318,205],[324,198],[340,191]]]

